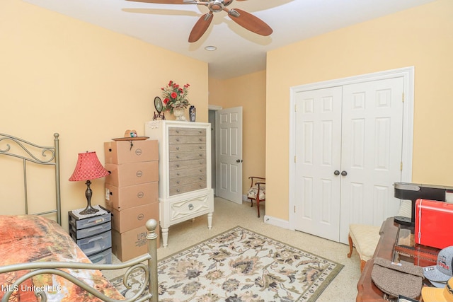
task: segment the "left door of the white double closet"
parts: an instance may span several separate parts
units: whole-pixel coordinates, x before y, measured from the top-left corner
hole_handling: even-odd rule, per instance
[[[297,229],[338,240],[341,87],[296,95]]]

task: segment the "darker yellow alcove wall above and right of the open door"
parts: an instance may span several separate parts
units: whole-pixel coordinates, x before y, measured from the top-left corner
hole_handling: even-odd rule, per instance
[[[210,79],[210,105],[242,106],[242,192],[250,187],[249,176],[265,177],[265,71],[228,80]]]

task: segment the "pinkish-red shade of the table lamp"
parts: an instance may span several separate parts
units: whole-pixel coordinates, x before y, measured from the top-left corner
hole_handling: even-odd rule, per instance
[[[108,170],[105,170],[99,162],[96,152],[79,153],[76,168],[69,181],[93,180],[103,178],[108,174]]]

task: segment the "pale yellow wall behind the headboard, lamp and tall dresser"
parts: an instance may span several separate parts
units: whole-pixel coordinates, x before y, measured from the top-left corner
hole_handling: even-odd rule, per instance
[[[197,121],[207,122],[206,63],[20,0],[0,1],[0,28],[0,132],[44,145],[59,132],[65,227],[67,211],[86,205],[86,185],[68,181],[77,153],[96,151],[104,163],[104,141],[126,129],[143,136],[169,80],[190,83]],[[1,214],[17,214],[21,201],[4,185]],[[104,204],[103,185],[93,180],[93,204]]]

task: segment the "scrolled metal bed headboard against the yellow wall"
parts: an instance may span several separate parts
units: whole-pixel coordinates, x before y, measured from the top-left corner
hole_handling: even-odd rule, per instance
[[[59,134],[54,133],[54,146],[39,146],[30,141],[19,139],[8,134],[0,133],[0,155],[14,156],[21,158],[23,161],[23,190],[25,193],[25,214],[28,214],[28,196],[27,196],[27,163],[36,163],[38,165],[55,165],[55,199],[56,208],[51,211],[35,213],[34,215],[57,214],[57,223],[62,224],[62,209],[60,197],[59,181]],[[4,143],[4,144],[2,144]],[[11,145],[14,144],[19,149],[25,151],[23,154],[11,151]],[[40,153],[40,154],[39,154]]]

